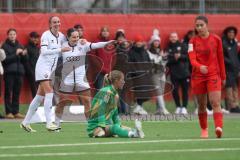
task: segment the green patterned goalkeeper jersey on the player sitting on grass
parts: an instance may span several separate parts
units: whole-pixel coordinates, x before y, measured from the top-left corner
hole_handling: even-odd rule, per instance
[[[105,128],[107,125],[119,124],[118,116],[118,93],[112,85],[102,88],[93,98],[90,116],[88,119],[87,132],[90,137],[97,127]]]

